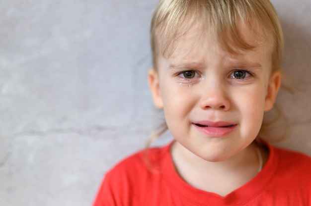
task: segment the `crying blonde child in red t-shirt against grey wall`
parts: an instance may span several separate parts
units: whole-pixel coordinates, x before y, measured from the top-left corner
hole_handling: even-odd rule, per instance
[[[175,141],[110,170],[94,206],[311,206],[311,158],[260,139],[281,84],[268,0],[161,0],[149,84]]]

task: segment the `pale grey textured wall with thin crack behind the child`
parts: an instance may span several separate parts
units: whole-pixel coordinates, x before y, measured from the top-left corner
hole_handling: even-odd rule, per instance
[[[1,1],[0,206],[90,205],[104,172],[145,146],[161,120],[146,78],[156,3]],[[310,84],[311,0],[273,3],[285,70]],[[295,119],[279,145],[311,155],[311,98],[278,101]]]

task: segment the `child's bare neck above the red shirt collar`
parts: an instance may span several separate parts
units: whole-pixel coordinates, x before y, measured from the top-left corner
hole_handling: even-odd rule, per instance
[[[207,161],[174,143],[171,154],[180,177],[195,188],[225,196],[251,180],[261,165],[252,143],[223,161]]]

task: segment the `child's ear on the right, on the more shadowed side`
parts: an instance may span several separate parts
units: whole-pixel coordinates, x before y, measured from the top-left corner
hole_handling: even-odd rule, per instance
[[[274,71],[269,79],[264,111],[269,111],[270,109],[272,109],[280,86],[281,86],[281,72]]]

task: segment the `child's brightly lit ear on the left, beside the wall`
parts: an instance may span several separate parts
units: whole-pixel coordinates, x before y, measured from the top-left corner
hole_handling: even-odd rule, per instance
[[[157,108],[163,108],[163,100],[160,92],[159,78],[155,69],[150,69],[148,73],[149,87]]]

